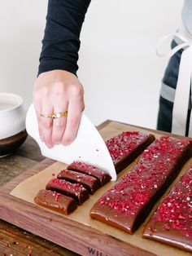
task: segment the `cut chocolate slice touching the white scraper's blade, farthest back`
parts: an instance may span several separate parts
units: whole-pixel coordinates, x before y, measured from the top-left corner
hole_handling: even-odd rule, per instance
[[[111,180],[111,176],[107,174],[107,172],[99,169],[96,166],[91,166],[89,164],[85,164],[82,161],[73,161],[71,165],[68,166],[68,170],[76,170],[82,174],[87,174],[89,176],[93,176],[97,178],[103,186]]]

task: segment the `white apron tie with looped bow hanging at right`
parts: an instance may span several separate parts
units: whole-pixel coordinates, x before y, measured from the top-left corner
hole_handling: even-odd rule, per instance
[[[180,38],[182,43],[174,47],[168,53],[159,53],[159,47],[169,38]],[[191,73],[192,73],[192,45],[180,33],[172,33],[162,38],[157,46],[157,55],[171,57],[177,51],[183,49],[181,54],[180,68],[177,87],[172,108],[172,133],[185,136],[186,121],[188,115]],[[190,118],[190,130],[192,129],[192,117]],[[192,135],[192,130],[189,132]]]

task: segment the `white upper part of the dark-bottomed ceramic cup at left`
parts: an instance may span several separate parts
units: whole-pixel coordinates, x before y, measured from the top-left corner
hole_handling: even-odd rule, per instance
[[[0,139],[24,130],[25,116],[23,99],[19,95],[0,93]]]

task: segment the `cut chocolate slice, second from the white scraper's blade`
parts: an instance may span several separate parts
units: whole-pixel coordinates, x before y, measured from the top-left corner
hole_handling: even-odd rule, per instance
[[[71,183],[81,183],[81,185],[88,190],[89,194],[94,194],[94,192],[101,187],[98,179],[74,170],[62,170],[57,178],[65,179]]]

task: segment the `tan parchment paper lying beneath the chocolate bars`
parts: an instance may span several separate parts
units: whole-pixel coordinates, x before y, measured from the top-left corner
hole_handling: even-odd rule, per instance
[[[146,131],[142,129],[138,129],[132,126],[127,126],[124,124],[117,123],[115,121],[112,121],[110,124],[108,124],[106,127],[104,127],[102,130],[100,130],[100,134],[103,136],[103,139],[107,140],[111,138],[114,135],[118,135],[120,132],[125,130],[140,130],[140,131]],[[147,132],[147,131],[146,131]],[[158,133],[153,133],[156,138],[160,137]],[[136,160],[137,161],[137,160]],[[132,166],[136,163],[136,161],[133,162],[133,164],[129,165],[125,170],[123,170],[120,174],[118,174],[118,179],[116,182],[120,180],[120,178],[128,172]],[[177,182],[181,174],[185,172],[185,170],[190,166],[190,163],[192,163],[192,159],[187,161],[185,166],[182,168],[179,176],[175,180],[174,183]],[[16,196],[20,199],[23,199],[24,201],[28,201],[34,205],[35,202],[34,197],[36,196],[37,192],[42,189],[46,188],[46,183],[50,180],[56,177],[57,174],[59,174],[60,170],[65,169],[67,166],[63,163],[56,162],[55,164],[47,167],[45,170],[41,170],[38,174],[33,175],[32,177],[25,179],[23,182],[21,182],[18,186],[16,186],[12,191],[11,195]],[[55,174],[55,176],[53,176]],[[172,183],[172,185],[174,184]],[[163,256],[190,256],[190,253],[187,253],[185,251],[182,251],[181,249],[176,249],[172,246],[161,244],[157,241],[150,241],[147,239],[142,238],[142,231],[144,228],[145,223],[142,224],[142,226],[135,232],[133,235],[129,235],[126,232],[120,231],[119,229],[116,229],[115,227],[108,226],[107,224],[101,223],[97,220],[94,220],[89,217],[89,210],[94,205],[96,201],[98,201],[98,198],[103,195],[104,192],[107,192],[111,186],[113,186],[115,182],[107,183],[103,188],[99,188],[97,192],[94,193],[94,195],[89,196],[89,199],[85,201],[85,203],[81,206],[78,206],[78,208],[69,216],[59,214],[57,212],[54,212],[52,210],[52,213],[62,215],[63,218],[70,218],[76,222],[83,223],[85,225],[88,225],[90,227],[94,227],[95,229],[98,229],[101,232],[105,232],[110,236],[115,236],[116,238],[120,239],[121,241],[129,242],[129,244],[136,245],[137,247],[140,247],[142,249],[146,249],[154,254],[157,255],[163,255]],[[171,186],[172,187],[172,186]],[[170,188],[171,188],[170,187]],[[168,188],[168,191],[170,190]],[[168,192],[167,191],[167,192]],[[167,194],[165,192],[165,194]],[[160,200],[161,201],[161,200]],[[156,209],[157,204],[155,205],[154,209],[151,211],[151,214]],[[37,207],[41,207],[37,205]]]

